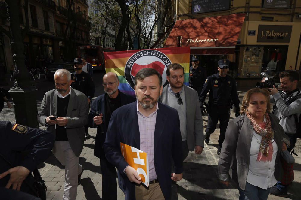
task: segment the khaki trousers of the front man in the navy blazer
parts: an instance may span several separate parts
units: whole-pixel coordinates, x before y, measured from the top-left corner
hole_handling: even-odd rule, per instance
[[[135,189],[136,200],[164,200],[162,190],[159,183],[150,184],[146,188],[142,183]]]

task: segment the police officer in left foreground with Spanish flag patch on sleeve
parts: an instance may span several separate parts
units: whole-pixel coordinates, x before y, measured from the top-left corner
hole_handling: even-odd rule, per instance
[[[53,145],[54,135],[48,131],[0,121],[0,187],[35,194],[30,172],[48,158]]]

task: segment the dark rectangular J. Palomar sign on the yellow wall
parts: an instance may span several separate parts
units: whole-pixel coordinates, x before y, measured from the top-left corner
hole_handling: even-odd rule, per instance
[[[290,42],[292,26],[258,25],[257,42]]]

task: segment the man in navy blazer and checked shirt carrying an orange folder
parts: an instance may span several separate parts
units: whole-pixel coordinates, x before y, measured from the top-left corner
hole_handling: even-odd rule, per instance
[[[182,179],[182,138],[178,112],[158,101],[162,77],[154,69],[143,68],[135,77],[137,101],[113,112],[103,148],[107,160],[118,169],[119,187],[126,200],[170,199],[171,179]],[[146,137],[148,136],[148,137]],[[147,153],[148,189],[137,171],[121,154],[120,142]],[[172,161],[174,173],[171,173]]]

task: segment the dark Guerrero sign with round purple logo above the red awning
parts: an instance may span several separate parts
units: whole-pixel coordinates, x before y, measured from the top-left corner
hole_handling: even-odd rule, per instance
[[[229,10],[230,2],[230,0],[195,0],[191,2],[191,14]]]

